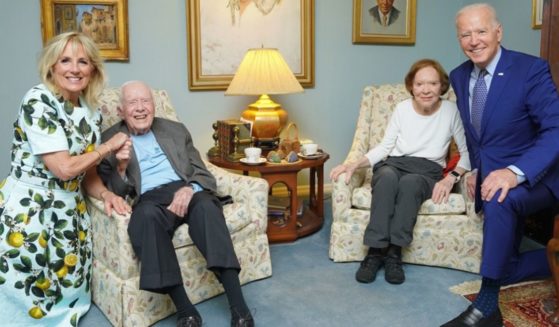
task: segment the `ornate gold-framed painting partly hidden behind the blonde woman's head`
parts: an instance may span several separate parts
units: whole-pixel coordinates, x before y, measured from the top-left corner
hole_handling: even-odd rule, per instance
[[[43,44],[60,33],[89,35],[106,60],[128,60],[128,0],[41,0]]]

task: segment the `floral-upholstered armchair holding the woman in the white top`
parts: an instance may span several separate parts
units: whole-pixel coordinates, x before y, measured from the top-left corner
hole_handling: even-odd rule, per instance
[[[403,84],[364,89],[357,129],[346,162],[362,157],[382,140],[395,105],[409,97]],[[452,90],[444,97],[456,100]],[[363,234],[370,216],[372,169],[356,171],[349,185],[344,179],[341,175],[333,182],[329,255],[335,262],[360,261],[367,253]],[[475,214],[474,204],[463,185],[457,184],[453,192],[456,193],[450,195],[448,203],[436,205],[431,200],[423,203],[413,241],[402,251],[404,262],[479,272],[482,218]]]

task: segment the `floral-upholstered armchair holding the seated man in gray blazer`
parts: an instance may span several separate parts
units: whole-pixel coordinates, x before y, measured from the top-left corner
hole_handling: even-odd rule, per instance
[[[178,121],[167,93],[154,90],[156,116]],[[119,90],[101,95],[103,130],[120,120],[117,116]],[[227,172],[206,162],[217,180],[218,193],[229,194],[233,203],[224,206],[227,227],[241,264],[241,283],[272,275],[267,226],[268,184],[259,178]],[[167,295],[141,291],[139,262],[128,239],[130,216],[103,212],[103,204],[89,198],[93,236],[93,301],[114,326],[149,326],[175,312]],[[177,229],[173,238],[184,286],[193,303],[223,292],[208,271],[206,261],[192,244],[188,226]]]

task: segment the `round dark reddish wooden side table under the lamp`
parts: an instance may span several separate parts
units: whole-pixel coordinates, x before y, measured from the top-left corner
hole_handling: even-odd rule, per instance
[[[299,237],[314,233],[322,227],[324,222],[324,163],[330,158],[328,153],[317,159],[302,159],[291,164],[264,163],[262,165],[247,165],[241,162],[231,162],[221,157],[211,157],[208,160],[221,168],[240,170],[244,175],[256,171],[264,178],[270,189],[276,183],[283,183],[290,193],[290,216],[285,225],[268,223],[268,240],[270,243],[293,242]],[[297,197],[297,173],[309,168],[309,206],[303,210],[303,215],[297,217],[299,198]],[[293,219],[297,217],[297,219]]]

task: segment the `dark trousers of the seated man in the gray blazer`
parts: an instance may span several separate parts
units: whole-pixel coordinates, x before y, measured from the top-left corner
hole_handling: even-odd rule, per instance
[[[207,191],[195,193],[184,218],[167,210],[175,192],[183,186],[184,182],[173,182],[148,191],[132,210],[128,235],[141,262],[142,290],[164,293],[169,287],[182,284],[172,242],[175,230],[182,223],[188,224],[188,233],[206,259],[208,269],[240,270],[223,208],[215,195]]]

